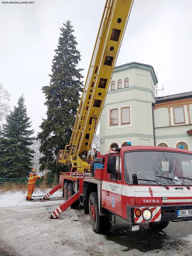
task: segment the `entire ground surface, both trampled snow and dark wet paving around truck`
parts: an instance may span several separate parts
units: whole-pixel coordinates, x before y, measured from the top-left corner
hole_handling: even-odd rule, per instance
[[[117,218],[111,231],[101,235],[93,232],[81,207],[68,208],[58,220],[49,219],[63,202],[60,191],[45,202],[38,200],[44,195],[40,191],[33,194],[32,202],[25,195],[0,195],[0,256],[192,255],[192,222],[171,223],[154,234],[149,228],[131,233],[126,222]]]

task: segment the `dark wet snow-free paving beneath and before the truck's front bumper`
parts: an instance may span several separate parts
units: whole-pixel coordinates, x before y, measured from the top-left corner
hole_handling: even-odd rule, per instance
[[[78,212],[79,210],[76,209]],[[82,210],[81,210],[82,214]],[[167,228],[154,231],[148,227],[131,232],[125,220],[116,217],[116,224],[112,225],[105,234],[108,241],[127,247],[124,252],[137,249],[140,252],[149,252],[155,249],[175,250],[182,256],[192,255],[192,244],[183,240],[183,237],[192,234],[192,221],[170,222]]]

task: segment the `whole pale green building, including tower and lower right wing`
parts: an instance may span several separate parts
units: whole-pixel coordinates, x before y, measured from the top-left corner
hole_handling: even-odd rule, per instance
[[[156,83],[150,65],[131,62],[115,68],[100,118],[102,154],[127,141],[192,148],[192,92],[155,98]]]

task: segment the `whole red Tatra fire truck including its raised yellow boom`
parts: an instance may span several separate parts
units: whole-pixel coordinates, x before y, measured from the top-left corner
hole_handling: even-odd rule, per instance
[[[110,230],[116,215],[132,231],[140,224],[163,229],[169,221],[192,220],[192,151],[128,143],[90,156],[132,3],[106,0],[71,140],[57,156],[71,172],[61,172],[60,184],[44,196],[63,188],[65,202],[51,219],[81,204],[97,233]]]

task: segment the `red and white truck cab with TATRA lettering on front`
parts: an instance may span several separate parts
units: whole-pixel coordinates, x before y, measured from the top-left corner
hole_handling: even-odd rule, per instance
[[[124,146],[104,157],[103,208],[131,224],[192,220],[192,151]]]

